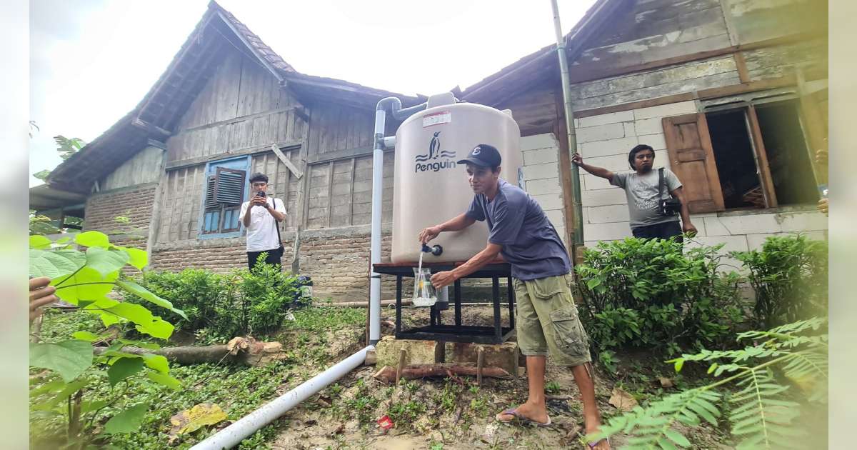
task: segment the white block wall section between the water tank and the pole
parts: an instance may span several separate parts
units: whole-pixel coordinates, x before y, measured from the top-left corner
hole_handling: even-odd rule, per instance
[[[521,188],[542,207],[565,243],[566,219],[560,182],[559,151],[560,143],[553,133],[522,137],[524,185]],[[506,177],[510,176],[506,174]]]

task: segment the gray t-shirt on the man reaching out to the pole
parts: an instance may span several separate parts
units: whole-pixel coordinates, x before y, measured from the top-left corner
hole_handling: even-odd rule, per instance
[[[631,228],[679,220],[678,215],[662,216],[657,213],[657,179],[657,169],[652,169],[644,175],[638,175],[637,172],[613,174],[610,184],[625,189],[625,195],[628,197]],[[663,184],[663,200],[669,198],[669,191],[681,187],[679,177],[666,168],[663,169]]]

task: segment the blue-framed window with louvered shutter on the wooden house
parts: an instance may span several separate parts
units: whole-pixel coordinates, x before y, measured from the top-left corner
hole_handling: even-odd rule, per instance
[[[221,159],[206,165],[202,195],[200,239],[239,237],[243,225],[238,217],[249,194],[250,156]]]

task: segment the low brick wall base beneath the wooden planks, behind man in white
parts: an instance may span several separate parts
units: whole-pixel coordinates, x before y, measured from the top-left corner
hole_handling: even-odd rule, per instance
[[[282,237],[283,265],[289,269],[295,233],[285,232]],[[316,297],[337,301],[369,298],[369,240],[366,225],[302,232],[300,272],[312,277]],[[390,260],[390,243],[387,231],[381,240],[381,261]],[[193,267],[228,273],[247,267],[245,245],[243,237],[158,243],[153,248],[151,267],[174,272]],[[393,298],[395,280],[386,276],[381,280],[381,297]]]

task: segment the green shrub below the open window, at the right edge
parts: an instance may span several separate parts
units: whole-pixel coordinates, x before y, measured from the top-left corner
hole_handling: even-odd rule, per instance
[[[761,250],[732,252],[749,270],[757,327],[827,315],[827,250],[826,241],[795,235],[768,237]]]

